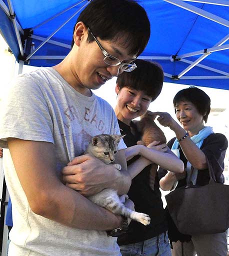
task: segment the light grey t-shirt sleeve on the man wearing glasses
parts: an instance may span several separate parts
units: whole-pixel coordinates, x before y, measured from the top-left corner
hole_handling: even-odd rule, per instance
[[[7,147],[7,137],[53,143],[48,107],[38,82],[29,74],[18,76],[2,102],[0,146]]]

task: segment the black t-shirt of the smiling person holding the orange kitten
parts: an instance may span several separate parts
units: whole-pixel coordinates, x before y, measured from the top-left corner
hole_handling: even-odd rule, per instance
[[[125,144],[127,146],[135,145],[141,136],[137,131],[135,124],[131,122],[130,127],[120,120],[118,120],[118,124],[121,129],[121,134],[126,134],[123,138]],[[138,157],[139,156],[135,156],[127,161],[127,165]],[[156,173],[153,191],[149,186],[149,169],[150,165],[145,167],[132,179],[127,194],[129,199],[134,202],[135,210],[148,214],[151,218],[151,222],[149,225],[144,226],[143,224],[132,220],[129,224],[127,233],[118,237],[117,242],[119,245],[144,241],[167,230],[165,210],[163,209],[161,193],[159,190],[158,174]]]

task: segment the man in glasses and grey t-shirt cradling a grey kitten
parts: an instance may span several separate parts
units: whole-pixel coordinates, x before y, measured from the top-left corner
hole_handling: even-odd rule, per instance
[[[121,231],[125,221],[83,195],[105,187],[128,191],[123,150],[116,157],[121,171],[80,154],[92,136],[119,133],[111,106],[91,89],[136,68],[149,34],[147,15],[135,1],[92,0],[77,19],[69,54],[56,66],[16,78],[0,121],[9,148],[9,256],[120,255],[112,230]]]

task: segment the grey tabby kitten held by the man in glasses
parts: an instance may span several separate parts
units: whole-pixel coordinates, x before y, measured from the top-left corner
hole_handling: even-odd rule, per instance
[[[94,136],[92,137],[85,153],[91,154],[104,163],[109,164],[114,161],[118,142],[123,136],[124,135],[108,134]],[[114,166],[118,170],[121,169],[121,166],[118,163],[115,163]],[[150,217],[147,214],[136,212],[125,207],[123,203],[128,198],[127,194],[118,196],[117,191],[114,189],[105,188],[94,195],[88,196],[87,198],[99,206],[110,210],[114,214],[126,216],[130,219],[141,222],[144,225],[148,225],[150,223]]]

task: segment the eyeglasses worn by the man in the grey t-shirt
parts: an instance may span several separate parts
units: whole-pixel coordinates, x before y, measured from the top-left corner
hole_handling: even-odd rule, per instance
[[[88,31],[91,33],[91,35],[93,36],[94,40],[96,41],[98,47],[101,49],[104,58],[103,61],[110,66],[119,66],[118,68],[118,72],[117,74],[120,73],[120,70],[125,71],[125,72],[131,72],[132,70],[134,70],[137,66],[134,62],[130,62],[130,63],[124,63],[122,62],[120,59],[110,55],[100,44],[100,42],[97,40],[97,38],[93,35],[93,33],[91,32],[90,28],[87,27]]]

